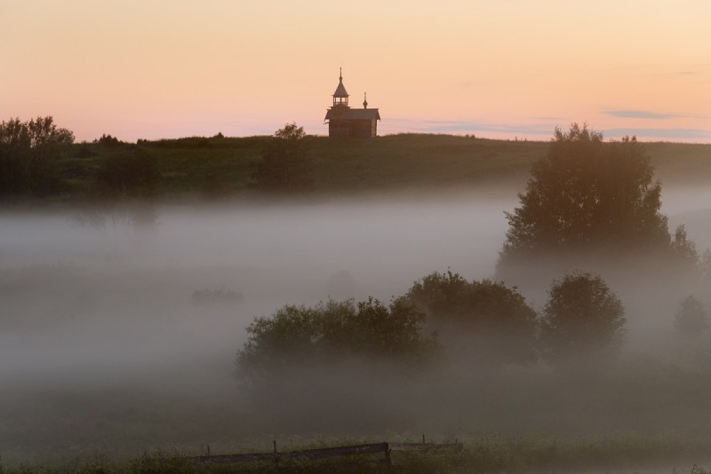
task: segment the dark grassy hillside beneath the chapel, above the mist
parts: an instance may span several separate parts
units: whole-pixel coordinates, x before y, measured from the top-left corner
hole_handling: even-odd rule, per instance
[[[97,177],[112,157],[139,156],[157,170],[162,199],[249,193],[252,170],[269,137],[180,138],[139,144],[76,144],[60,157],[61,194],[91,198]],[[353,140],[308,137],[318,194],[441,190],[515,184],[523,186],[547,142],[490,140],[451,135],[400,134]],[[711,183],[711,145],[646,144],[663,183]],[[140,170],[130,171],[140,174]]]

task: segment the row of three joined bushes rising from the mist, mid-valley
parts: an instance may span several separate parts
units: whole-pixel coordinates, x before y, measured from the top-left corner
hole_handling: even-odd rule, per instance
[[[237,352],[237,376],[245,387],[264,387],[303,367],[326,370],[354,361],[395,372],[448,358],[466,360],[472,371],[539,359],[551,367],[605,363],[624,343],[626,322],[619,297],[592,273],[554,280],[537,312],[502,282],[434,272],[389,307],[372,297],[357,304],[329,300],[256,318]]]

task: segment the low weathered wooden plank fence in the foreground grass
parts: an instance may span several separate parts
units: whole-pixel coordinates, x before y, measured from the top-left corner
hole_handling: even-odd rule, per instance
[[[394,451],[411,451],[424,453],[439,449],[462,449],[462,444],[455,440],[454,443],[426,443],[425,437],[422,436],[422,443],[366,443],[363,445],[352,446],[334,446],[323,447],[317,449],[300,449],[297,451],[277,452],[276,441],[274,441],[274,451],[271,453],[247,453],[247,454],[208,454],[195,456],[192,459],[195,462],[211,462],[216,464],[228,464],[237,462],[260,462],[272,461],[279,462],[282,460],[307,458],[307,459],[326,459],[332,457],[348,457],[360,456],[364,454],[383,454],[383,462],[392,463],[390,453]]]

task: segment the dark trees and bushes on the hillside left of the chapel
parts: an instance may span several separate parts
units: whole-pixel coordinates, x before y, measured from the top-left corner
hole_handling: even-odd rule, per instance
[[[220,138],[224,138],[221,133],[212,139]],[[74,133],[58,127],[52,116],[0,122],[0,198],[66,193],[66,179],[73,177],[76,167],[60,170],[59,162],[74,140]],[[210,145],[207,138],[188,142],[190,147]],[[80,159],[97,155],[96,146],[110,150],[110,153],[102,153],[98,166],[81,171],[91,173],[93,178],[92,187],[84,192],[110,199],[155,197],[161,173],[156,155],[147,153],[147,143],[146,140],[125,143],[107,134],[93,140],[91,146],[82,143],[73,153]],[[311,160],[303,128],[291,123],[277,130],[262,146],[260,162],[252,167],[250,179],[249,188],[258,194],[305,194],[313,190]],[[217,198],[226,193],[226,183],[211,172],[199,191],[204,197]]]

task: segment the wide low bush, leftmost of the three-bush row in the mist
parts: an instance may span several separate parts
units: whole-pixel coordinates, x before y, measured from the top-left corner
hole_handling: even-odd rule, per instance
[[[425,315],[403,300],[377,299],[286,305],[270,318],[257,318],[250,337],[237,352],[238,374],[245,379],[276,375],[309,364],[349,359],[421,362],[436,349],[433,337],[421,335]]]

